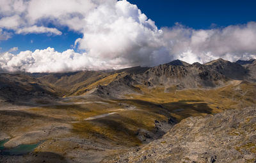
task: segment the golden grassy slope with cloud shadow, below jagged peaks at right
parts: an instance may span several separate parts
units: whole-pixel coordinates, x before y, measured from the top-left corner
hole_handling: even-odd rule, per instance
[[[143,94],[127,95],[132,100],[160,104],[181,120],[202,113],[218,113],[225,109],[255,106],[256,85],[246,81],[232,81],[216,89],[184,89],[176,87],[154,87],[137,85]]]

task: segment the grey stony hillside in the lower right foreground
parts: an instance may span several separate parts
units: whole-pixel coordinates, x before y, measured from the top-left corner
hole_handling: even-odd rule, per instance
[[[256,162],[256,109],[189,117],[163,138],[104,162]]]

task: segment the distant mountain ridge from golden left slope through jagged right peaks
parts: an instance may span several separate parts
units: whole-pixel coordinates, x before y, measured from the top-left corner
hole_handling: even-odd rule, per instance
[[[136,85],[147,87],[176,87],[176,89],[214,88],[232,80],[255,81],[255,62],[229,62],[223,59],[206,64],[188,64],[173,60],[155,67],[131,67],[117,71],[79,71],[74,73],[31,74],[40,81],[51,83],[66,91],[65,96],[99,94],[111,97],[141,93]],[[239,63],[243,64],[241,66]],[[253,64],[254,63],[254,64]]]

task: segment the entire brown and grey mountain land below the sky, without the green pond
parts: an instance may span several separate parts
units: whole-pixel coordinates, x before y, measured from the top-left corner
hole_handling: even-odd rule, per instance
[[[0,149],[36,146],[0,162],[254,162],[255,81],[255,59],[2,73]]]

